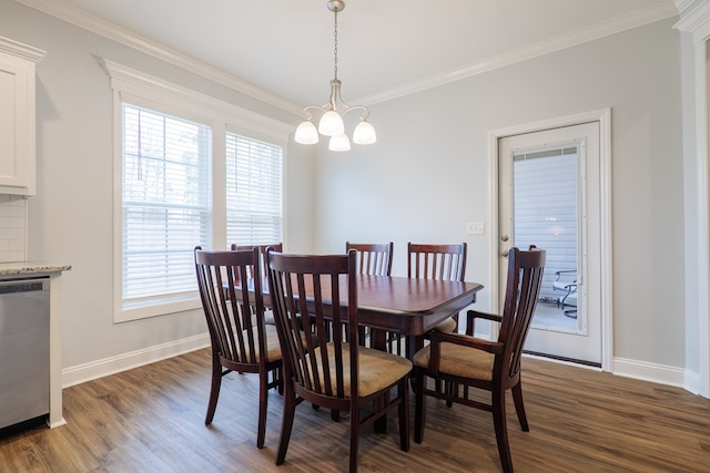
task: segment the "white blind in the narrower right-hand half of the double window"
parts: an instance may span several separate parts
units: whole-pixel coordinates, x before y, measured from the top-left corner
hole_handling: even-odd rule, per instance
[[[229,244],[283,240],[283,150],[226,134],[226,237]]]

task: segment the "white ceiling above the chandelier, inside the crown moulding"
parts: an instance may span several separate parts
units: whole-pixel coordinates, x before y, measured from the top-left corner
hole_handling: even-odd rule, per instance
[[[114,39],[138,35],[148,49],[197,60],[291,109],[327,100],[334,18],[326,0],[16,1]],[[673,0],[345,3],[338,13],[343,99],[368,104],[678,12]]]

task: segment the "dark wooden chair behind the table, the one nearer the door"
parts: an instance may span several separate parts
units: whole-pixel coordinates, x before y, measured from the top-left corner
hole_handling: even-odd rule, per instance
[[[463,281],[466,276],[467,244],[460,245],[407,245],[407,276],[417,279]],[[434,330],[454,332],[458,313],[434,327]]]

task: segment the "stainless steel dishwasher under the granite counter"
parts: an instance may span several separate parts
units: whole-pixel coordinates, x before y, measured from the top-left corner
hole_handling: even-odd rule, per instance
[[[49,278],[0,279],[0,435],[49,414]]]

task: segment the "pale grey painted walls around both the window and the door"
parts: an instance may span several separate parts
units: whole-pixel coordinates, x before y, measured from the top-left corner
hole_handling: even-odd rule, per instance
[[[612,109],[613,352],[683,369],[683,172],[680,45],[671,21],[371,107],[378,143],[334,155],[291,143],[287,250],[342,251],[345,240],[469,243],[467,279],[490,286],[488,132]],[[111,89],[108,58],[284,122],[275,107],[51,17],[0,0],[0,31],[48,53],[38,64],[38,195],[29,257],[63,276],[63,366],[77,369],[204,335],[199,312],[112,322]],[[480,306],[490,305],[480,295]],[[139,357],[140,358],[140,357]]]

